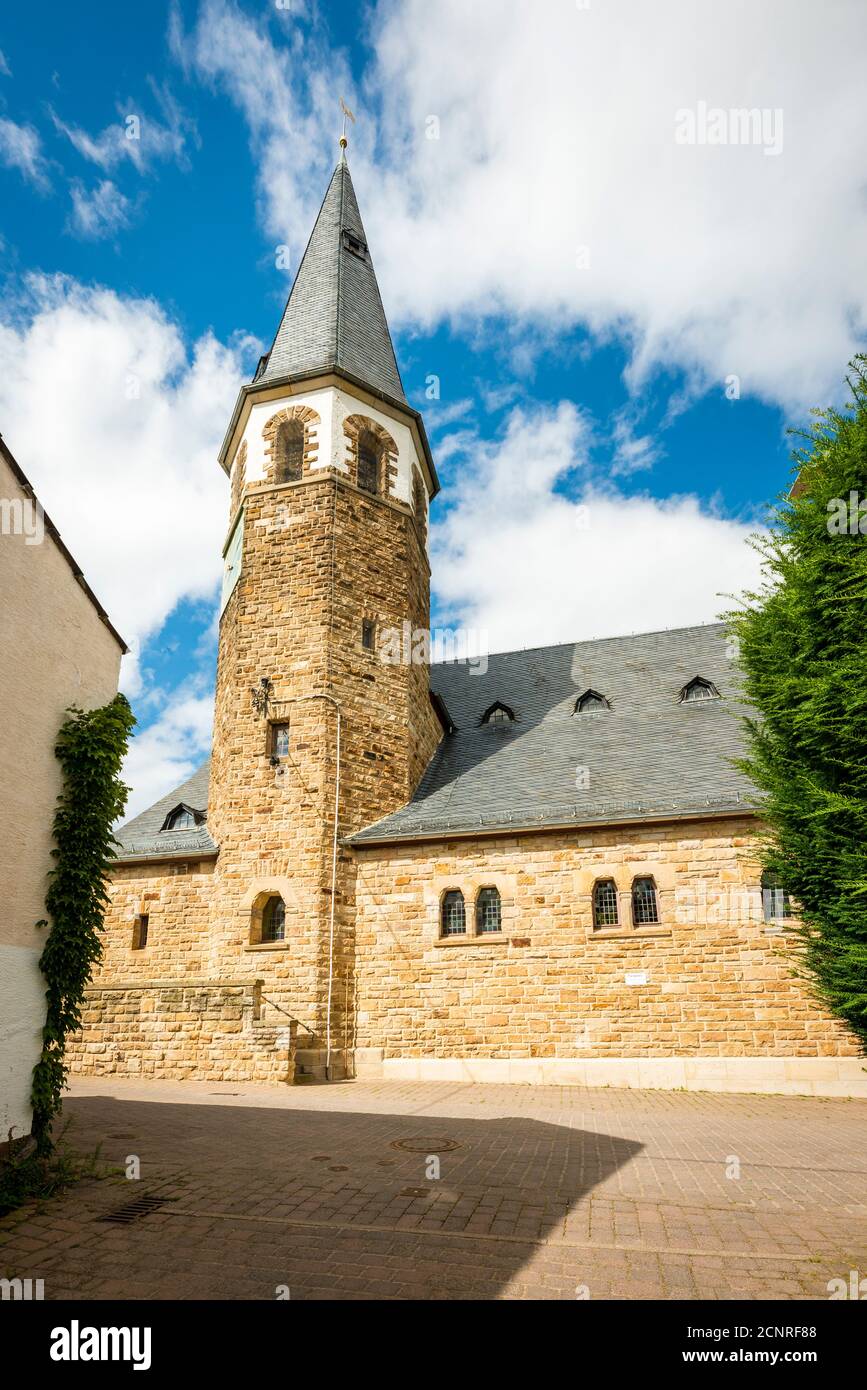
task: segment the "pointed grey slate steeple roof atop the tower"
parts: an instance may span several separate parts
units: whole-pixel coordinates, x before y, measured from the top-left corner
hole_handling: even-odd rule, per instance
[[[343,153],[256,385],[311,371],[343,371],[406,403]]]

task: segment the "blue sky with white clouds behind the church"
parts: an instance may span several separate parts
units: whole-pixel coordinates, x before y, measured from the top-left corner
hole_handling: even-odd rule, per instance
[[[760,10],[7,10],[0,431],[135,646],[133,808],[207,749],[215,452],[340,96],[445,485],[435,621],[525,646],[709,621],[754,581],[785,425],[838,395],[867,321],[863,7]],[[771,124],[679,143],[700,103]]]

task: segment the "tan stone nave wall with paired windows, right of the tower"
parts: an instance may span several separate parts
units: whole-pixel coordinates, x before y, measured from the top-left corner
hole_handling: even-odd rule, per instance
[[[750,823],[358,851],[357,1048],[385,1058],[856,1056],[761,915]],[[592,890],[653,874],[660,926],[595,931]],[[472,898],[499,887],[500,937]],[[439,937],[461,888],[467,937]],[[621,912],[621,922],[628,920]],[[627,973],[639,981],[627,983]]]

